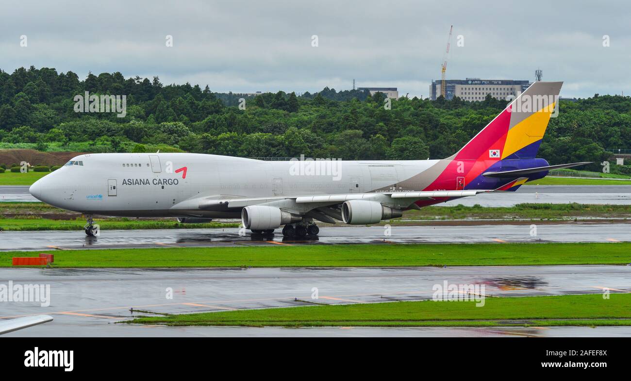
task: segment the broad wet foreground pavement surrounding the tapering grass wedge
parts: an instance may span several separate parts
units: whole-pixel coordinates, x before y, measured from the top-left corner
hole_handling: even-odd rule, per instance
[[[6,336],[630,336],[631,327],[241,328],[114,324],[134,315],[428,300],[434,284],[485,284],[488,296],[631,292],[630,266],[251,269],[0,269],[0,284],[50,284],[50,305],[5,302],[3,318],[54,321]],[[317,288],[317,299],[312,298]],[[169,298],[169,290],[172,290]],[[297,299],[297,300],[295,300]],[[131,312],[133,308],[137,312]],[[140,312],[138,312],[140,311]]]

